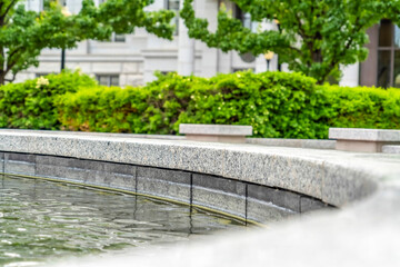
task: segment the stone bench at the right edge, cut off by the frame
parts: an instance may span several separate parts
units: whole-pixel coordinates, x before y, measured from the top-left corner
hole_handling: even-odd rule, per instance
[[[329,139],[337,140],[337,150],[382,152],[383,146],[400,145],[400,130],[330,128]]]

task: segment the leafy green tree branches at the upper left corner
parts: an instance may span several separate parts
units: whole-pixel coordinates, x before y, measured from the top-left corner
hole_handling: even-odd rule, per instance
[[[104,40],[113,31],[130,33],[137,27],[168,39],[173,33],[172,12],[143,10],[152,0],[108,0],[99,7],[83,0],[78,14],[68,13],[53,0],[41,12],[27,10],[20,1],[0,0],[0,85],[38,66],[44,48],[73,48],[81,40]]]

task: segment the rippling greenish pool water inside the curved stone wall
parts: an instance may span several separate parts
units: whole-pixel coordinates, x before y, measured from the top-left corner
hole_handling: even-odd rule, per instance
[[[186,241],[243,224],[187,206],[0,175],[0,266]]]

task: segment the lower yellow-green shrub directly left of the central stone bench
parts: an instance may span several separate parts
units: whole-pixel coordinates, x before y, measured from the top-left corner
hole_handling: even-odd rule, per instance
[[[143,88],[84,88],[60,97],[57,105],[64,129],[106,132],[176,134],[191,87],[206,79],[158,75]]]

